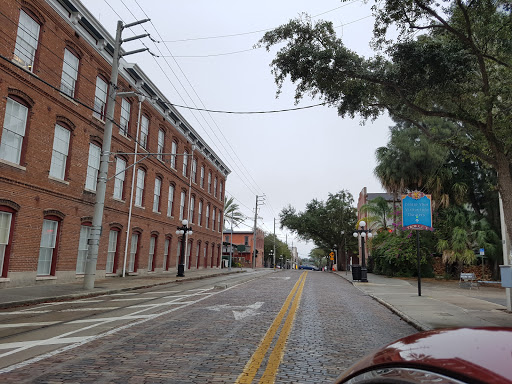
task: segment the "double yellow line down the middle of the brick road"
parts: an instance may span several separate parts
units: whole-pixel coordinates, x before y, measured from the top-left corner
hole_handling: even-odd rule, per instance
[[[279,338],[277,339],[277,342],[274,345],[274,349],[272,350],[272,353],[268,358],[268,363],[267,367],[265,368],[265,372],[263,372],[263,375],[261,376],[261,379],[259,381],[260,384],[274,382],[277,369],[279,368],[279,364],[281,364],[281,360],[284,355],[284,347],[286,344],[286,340],[288,340],[288,336],[290,335],[293,319],[295,318],[295,313],[297,312],[297,307],[302,296],[304,283],[306,282],[306,276],[307,272],[304,272],[302,273],[302,275],[300,275],[299,279],[293,286],[292,291],[290,292],[290,294],[286,298],[286,301],[281,307],[281,310],[279,311],[276,318],[272,322],[272,325],[265,334],[265,337],[263,337],[263,340],[261,340],[260,345],[258,346],[256,351],[253,353],[253,355],[245,365],[244,371],[240,374],[240,376],[238,376],[238,379],[235,382],[236,384],[252,383],[254,377],[258,373],[258,370],[261,366],[261,363],[263,362],[263,359],[265,358],[265,355],[267,354],[270,348],[270,345],[272,344],[272,340],[274,339],[274,336],[276,335],[277,330],[279,329],[279,326],[281,325],[283,318],[286,315],[286,312],[288,312],[290,302],[292,302],[293,299],[290,311],[288,312],[288,316],[286,316],[286,320],[281,329],[281,333],[279,334]],[[295,295],[295,293],[297,294]],[[293,298],[293,296],[295,296],[295,298]]]

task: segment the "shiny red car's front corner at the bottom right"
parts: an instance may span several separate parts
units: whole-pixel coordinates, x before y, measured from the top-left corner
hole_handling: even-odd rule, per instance
[[[363,358],[336,383],[512,384],[512,328],[459,328],[407,336]]]

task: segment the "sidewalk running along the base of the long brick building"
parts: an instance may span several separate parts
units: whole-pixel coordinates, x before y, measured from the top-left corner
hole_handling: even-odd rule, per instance
[[[94,284],[94,289],[92,290],[85,290],[83,288],[83,279],[78,279],[76,282],[65,284],[45,284],[28,287],[4,288],[0,289],[0,309],[38,304],[48,301],[74,300],[152,287],[161,284],[169,284],[178,281],[199,280],[213,276],[229,275],[241,272],[247,272],[247,269],[232,268],[231,271],[228,271],[227,268],[186,270],[185,277],[176,277],[176,271],[150,273],[143,276],[108,277],[104,279],[97,279]]]

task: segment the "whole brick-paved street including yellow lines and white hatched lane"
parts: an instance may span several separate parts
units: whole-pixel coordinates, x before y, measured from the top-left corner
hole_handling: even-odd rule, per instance
[[[0,311],[0,382],[328,383],[415,332],[339,276],[267,270]]]

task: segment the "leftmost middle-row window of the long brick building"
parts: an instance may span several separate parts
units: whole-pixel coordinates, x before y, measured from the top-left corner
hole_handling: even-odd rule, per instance
[[[4,129],[0,143],[0,158],[20,164],[21,152],[27,127],[28,108],[23,104],[7,99],[5,105]]]

